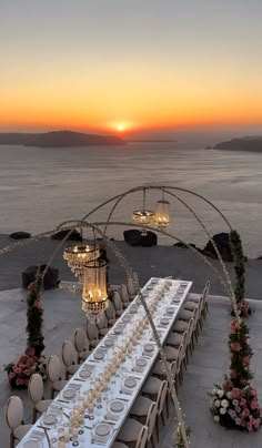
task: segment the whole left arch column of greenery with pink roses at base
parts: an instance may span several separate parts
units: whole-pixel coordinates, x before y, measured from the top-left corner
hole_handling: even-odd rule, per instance
[[[24,389],[28,387],[32,374],[40,374],[43,379],[47,378],[47,359],[42,356],[44,349],[42,335],[42,303],[40,289],[42,284],[41,275],[37,275],[36,282],[28,287],[27,297],[27,348],[18,362],[4,366],[8,374],[8,380],[11,388]]]

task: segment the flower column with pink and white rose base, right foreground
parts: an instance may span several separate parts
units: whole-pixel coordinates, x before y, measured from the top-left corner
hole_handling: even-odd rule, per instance
[[[229,337],[231,353],[230,377],[211,391],[210,410],[214,421],[231,429],[256,431],[262,424],[262,408],[258,393],[250,386],[252,350],[249,330],[242,319],[231,324]]]

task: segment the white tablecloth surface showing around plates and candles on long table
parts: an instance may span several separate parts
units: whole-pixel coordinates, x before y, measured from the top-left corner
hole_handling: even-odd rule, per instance
[[[152,277],[141,289],[149,306],[153,301],[157,301],[158,306],[154,313],[153,320],[157,330],[159,332],[161,343],[164,343],[168,334],[170,333],[170,329],[173,326],[178,313],[185,301],[191,285],[191,282]],[[144,316],[145,312],[141,304],[141,301],[139,299],[139,297],[135,297],[135,299],[125,309],[123,315],[109,330],[107,336],[100,342],[100,344],[95,347],[95,349],[91,353],[87,360],[80,366],[80,369],[70,379],[67,387],[53,400],[53,404],[56,406],[63,408],[64,414],[62,415],[62,421],[60,422],[60,425],[68,421],[67,415],[69,415],[69,413],[73,409],[73,406],[77,405],[75,401],[64,398],[64,390],[77,388],[82,394],[84,390],[92,388],[92,385],[94,384],[99,374],[104,371],[104,366],[110,360],[110,357],[112,357],[115,347],[121,347],[123,345],[123,342],[127,340],[130,335],[133,335],[134,326],[138,326],[138,323],[141,322]],[[122,332],[120,334],[117,334],[115,332],[118,330]],[[108,347],[107,340],[111,337],[113,337],[114,339],[114,346]],[[145,352],[144,347],[148,344],[153,345],[152,353]],[[98,360],[95,359],[95,357],[98,356],[98,353],[101,352],[101,349],[104,352],[105,355],[103,359]],[[105,448],[110,448],[113,445],[113,441],[115,440],[121,426],[129,415],[143,383],[149,376],[149,373],[158,355],[159,349],[155,342],[153,340],[152,329],[151,327],[147,327],[138,344],[132,347],[132,352],[125,355],[125,358],[122,360],[120,367],[117,369],[117,373],[111,376],[109,380],[109,390],[102,391],[101,404],[97,403],[94,406],[94,418],[92,420],[90,420],[89,418],[84,419],[84,434],[79,437],[79,447],[101,448],[102,445]],[[144,359],[143,363],[147,363],[143,369],[139,368],[135,364],[137,359],[139,358]],[[88,379],[83,380],[81,377],[81,370],[87,368],[87,366],[89,366],[89,368],[92,370],[92,375]],[[133,381],[135,383],[133,389],[128,390],[124,387],[124,380],[127,378],[133,378],[135,380]],[[111,418],[112,414],[110,413],[109,408],[110,403],[114,399],[119,399],[121,403],[123,403],[124,406],[124,409],[118,418]],[[85,415],[88,416],[88,411]],[[101,441],[94,437],[93,431],[95,429],[95,425],[102,421],[107,422],[112,428],[112,430],[107,440]],[[47,426],[43,425],[42,417],[38,419],[36,425],[18,445],[18,447],[24,447],[24,444],[31,438],[40,440],[39,432],[42,431],[44,434],[44,430],[40,428],[40,426]],[[52,427],[48,429],[48,434],[49,438],[51,439],[53,434]],[[41,440],[41,444],[42,445],[39,446],[36,445],[36,448],[39,448],[40,446],[42,448],[49,448],[47,437]],[[73,445],[72,442],[69,442],[66,446],[67,448],[69,448]]]

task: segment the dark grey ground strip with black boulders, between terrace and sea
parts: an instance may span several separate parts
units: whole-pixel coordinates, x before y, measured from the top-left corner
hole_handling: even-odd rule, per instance
[[[0,250],[10,244],[13,240],[7,235],[0,235]],[[44,264],[58,247],[59,242],[50,238],[42,238],[37,242],[26,240],[26,245],[17,247],[12,252],[0,256],[0,291],[17,288],[21,286],[21,273],[28,266]],[[170,246],[153,247],[131,247],[125,242],[114,242],[125,255],[131,267],[137,271],[141,285],[150,277],[165,277],[172,275],[173,278],[190,278],[193,282],[192,292],[201,293],[203,291],[206,277],[211,282],[211,294],[228,295],[220,281],[213,274],[213,271],[202,261],[200,261],[190,250]],[[67,242],[64,246],[73,245],[73,242]],[[125,282],[125,273],[115,259],[115,255],[108,251],[110,258],[109,281],[118,284]],[[208,258],[221,272],[218,261]],[[62,248],[58,251],[52,262],[52,266],[59,268],[59,277],[63,281],[74,281],[74,277],[62,257]],[[226,263],[226,268],[232,278],[232,263]],[[249,259],[245,264],[246,297],[260,301],[261,297],[261,275],[262,261]]]

